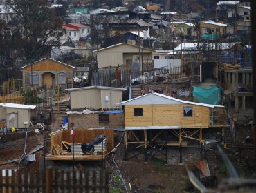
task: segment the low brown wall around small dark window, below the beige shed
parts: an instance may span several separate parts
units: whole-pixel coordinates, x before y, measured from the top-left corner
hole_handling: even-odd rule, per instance
[[[105,127],[106,129],[123,128],[124,114],[109,114],[109,123],[99,123],[99,114],[70,114],[68,115],[69,124],[73,123],[74,128],[89,129]]]

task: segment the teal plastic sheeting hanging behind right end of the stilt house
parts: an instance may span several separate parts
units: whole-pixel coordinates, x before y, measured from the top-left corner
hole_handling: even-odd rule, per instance
[[[213,85],[211,88],[193,87],[193,96],[199,103],[218,105],[221,101],[221,88]]]

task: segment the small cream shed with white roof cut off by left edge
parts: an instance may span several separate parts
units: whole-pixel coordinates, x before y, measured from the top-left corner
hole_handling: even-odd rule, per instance
[[[6,128],[28,128],[31,121],[31,110],[35,105],[0,103],[0,120],[6,120]]]

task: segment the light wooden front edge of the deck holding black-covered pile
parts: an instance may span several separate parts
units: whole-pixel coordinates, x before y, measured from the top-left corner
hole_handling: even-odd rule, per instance
[[[75,155],[75,161],[100,161],[105,159],[105,155]],[[62,161],[73,161],[73,155],[48,155],[46,160],[62,160]]]

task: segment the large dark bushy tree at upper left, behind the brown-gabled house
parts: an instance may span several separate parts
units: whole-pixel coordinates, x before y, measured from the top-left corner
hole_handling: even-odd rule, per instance
[[[18,57],[31,62],[46,52],[62,32],[62,18],[57,17],[46,0],[7,0],[13,10],[9,25],[12,26],[12,45]]]

